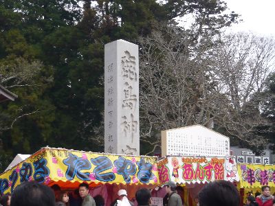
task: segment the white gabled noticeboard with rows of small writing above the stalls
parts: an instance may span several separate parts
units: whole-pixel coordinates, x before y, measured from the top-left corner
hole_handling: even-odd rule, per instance
[[[162,156],[229,157],[230,140],[204,126],[162,131]]]

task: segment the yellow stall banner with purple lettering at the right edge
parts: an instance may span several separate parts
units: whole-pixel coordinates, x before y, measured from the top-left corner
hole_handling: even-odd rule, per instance
[[[241,187],[275,187],[274,165],[238,164]]]

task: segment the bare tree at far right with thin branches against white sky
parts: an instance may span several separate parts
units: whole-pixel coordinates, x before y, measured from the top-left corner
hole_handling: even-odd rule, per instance
[[[222,41],[220,47],[213,50],[216,73],[212,78],[219,82],[219,91],[230,100],[222,117],[223,127],[248,147],[261,150],[267,139],[257,130],[270,124],[261,115],[261,104],[267,97],[263,94],[267,77],[274,71],[275,40],[252,34],[232,34]]]

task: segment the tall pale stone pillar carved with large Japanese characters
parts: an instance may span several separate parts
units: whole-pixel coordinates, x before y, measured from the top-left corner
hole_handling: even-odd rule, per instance
[[[121,39],[104,48],[104,151],[140,155],[138,46]]]

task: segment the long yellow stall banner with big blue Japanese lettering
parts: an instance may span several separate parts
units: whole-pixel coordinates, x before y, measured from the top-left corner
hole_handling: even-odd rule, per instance
[[[25,181],[157,184],[156,157],[109,155],[42,148],[0,174],[0,193],[13,192]]]

